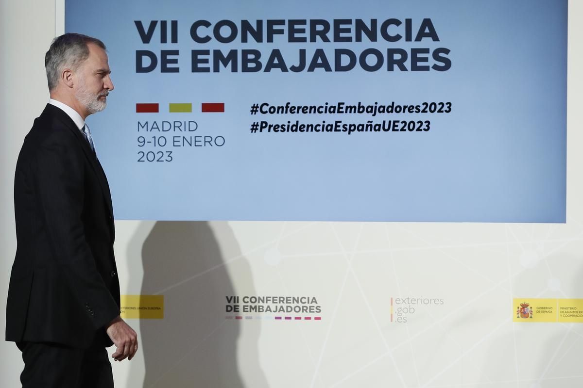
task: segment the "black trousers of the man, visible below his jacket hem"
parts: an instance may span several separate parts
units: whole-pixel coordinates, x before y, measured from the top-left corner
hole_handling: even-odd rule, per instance
[[[23,388],[113,388],[106,348],[75,349],[53,343],[19,342]]]

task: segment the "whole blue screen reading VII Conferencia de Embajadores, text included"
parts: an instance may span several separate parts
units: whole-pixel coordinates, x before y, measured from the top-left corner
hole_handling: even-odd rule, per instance
[[[66,1],[118,219],[565,222],[567,1]]]

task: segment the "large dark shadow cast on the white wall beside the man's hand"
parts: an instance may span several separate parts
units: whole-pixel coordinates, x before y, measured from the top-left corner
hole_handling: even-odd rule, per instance
[[[164,319],[139,321],[145,375],[141,365],[132,366],[128,387],[244,387],[240,365],[254,376],[253,387],[267,386],[258,358],[261,326],[245,328],[252,348],[238,362],[244,322],[225,319],[226,296],[235,295],[225,261],[233,259],[238,284],[252,290],[251,270],[229,225],[216,222],[213,229],[208,222],[161,221],[142,240],[141,294],[164,296]],[[137,290],[139,279],[130,280]]]

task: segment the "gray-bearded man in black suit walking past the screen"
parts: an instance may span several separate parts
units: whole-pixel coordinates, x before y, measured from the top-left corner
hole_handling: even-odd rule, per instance
[[[22,351],[23,387],[113,387],[112,357],[134,357],[120,318],[114,221],[106,176],[85,118],[113,90],[103,42],[55,38],[45,56],[51,99],[16,163],[17,250],[6,340]]]

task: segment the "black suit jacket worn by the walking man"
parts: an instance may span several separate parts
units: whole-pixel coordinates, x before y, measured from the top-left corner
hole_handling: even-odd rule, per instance
[[[6,340],[111,345],[120,314],[110,190],[85,136],[61,109],[34,120],[16,163],[17,249]]]

